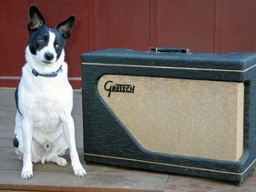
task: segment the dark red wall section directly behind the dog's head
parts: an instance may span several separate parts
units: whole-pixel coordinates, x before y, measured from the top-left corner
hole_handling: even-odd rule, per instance
[[[18,5],[17,5],[18,4]],[[0,65],[0,87],[17,87],[21,68],[25,63],[24,49],[28,41],[28,9],[35,4],[43,13],[46,24],[54,28],[71,14],[76,14],[73,34],[65,46],[66,61],[69,64],[69,79],[72,87],[80,88],[80,54],[89,51],[88,1],[76,0],[10,0],[2,3],[0,16],[6,26],[1,31],[1,55],[6,55]],[[6,64],[6,65],[3,65]]]

